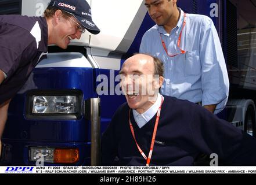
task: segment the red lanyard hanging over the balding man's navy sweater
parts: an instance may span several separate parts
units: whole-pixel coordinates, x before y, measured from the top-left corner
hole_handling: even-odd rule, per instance
[[[130,125],[130,128],[131,128],[132,136],[134,137],[135,143],[136,143],[136,145],[137,145],[137,147],[139,149],[140,154],[142,154],[142,156],[147,161],[146,166],[149,166],[149,163],[150,163],[150,160],[151,160],[151,157],[152,157],[152,153],[153,153],[154,139],[156,138],[158,121],[159,121],[159,117],[160,117],[160,112],[161,112],[162,104],[163,104],[163,101],[164,101],[163,97],[161,97],[161,98],[162,98],[162,101],[161,101],[161,105],[160,105],[160,107],[158,108],[158,111],[157,111],[156,123],[154,124],[154,132],[153,132],[153,136],[152,136],[152,140],[151,140],[151,145],[150,145],[150,150],[149,150],[149,156],[148,157],[146,157],[145,153],[142,151],[142,149],[140,149],[140,147],[139,147],[139,145],[138,145],[138,143],[136,141],[135,133],[134,133],[134,127],[132,127],[132,123],[131,123],[131,120],[130,120],[131,109],[129,109],[129,125]]]

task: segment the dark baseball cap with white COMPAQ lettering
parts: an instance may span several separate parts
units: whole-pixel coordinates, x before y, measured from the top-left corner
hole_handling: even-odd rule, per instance
[[[77,21],[89,32],[99,34],[100,29],[92,21],[91,8],[86,0],[51,0],[49,6],[73,14]]]

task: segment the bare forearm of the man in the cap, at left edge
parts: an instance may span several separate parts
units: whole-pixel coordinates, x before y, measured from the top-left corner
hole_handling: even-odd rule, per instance
[[[5,122],[7,120],[8,107],[10,104],[10,99],[0,105],[0,140],[2,138],[3,129],[5,128]],[[2,150],[2,143],[0,141],[0,157]]]

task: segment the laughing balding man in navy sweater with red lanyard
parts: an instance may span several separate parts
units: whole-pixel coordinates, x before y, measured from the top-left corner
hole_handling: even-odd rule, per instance
[[[102,136],[102,165],[195,165],[201,153],[225,165],[256,165],[255,138],[199,105],[158,93],[164,68],[157,58],[136,54],[120,74],[127,103]]]

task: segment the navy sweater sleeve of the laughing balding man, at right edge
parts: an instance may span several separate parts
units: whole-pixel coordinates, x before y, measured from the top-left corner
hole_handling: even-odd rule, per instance
[[[194,146],[215,153],[228,165],[256,165],[256,139],[204,108],[194,108],[191,122]]]

